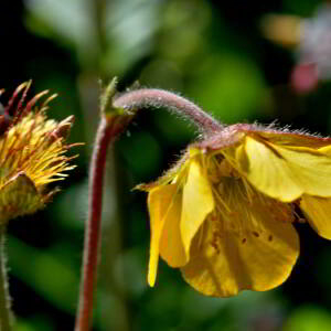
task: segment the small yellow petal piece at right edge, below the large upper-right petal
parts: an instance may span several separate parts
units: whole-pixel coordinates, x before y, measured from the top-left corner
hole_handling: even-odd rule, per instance
[[[302,195],[300,207],[311,227],[323,238],[331,239],[331,197]]]

